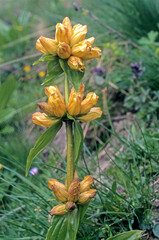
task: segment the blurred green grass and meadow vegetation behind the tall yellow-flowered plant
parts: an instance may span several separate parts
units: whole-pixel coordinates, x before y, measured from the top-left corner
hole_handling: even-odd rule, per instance
[[[56,203],[47,182],[65,181],[64,129],[34,161],[38,173],[25,177],[28,152],[44,131],[31,123],[45,100],[39,83],[46,68],[32,66],[40,55],[35,43],[40,35],[53,38],[65,16],[87,24],[103,51],[84,77],[103,116],[82,125],[78,173],[94,175],[98,194],[77,240],[133,229],[158,239],[159,0],[0,0],[0,16],[0,239],[45,239]]]

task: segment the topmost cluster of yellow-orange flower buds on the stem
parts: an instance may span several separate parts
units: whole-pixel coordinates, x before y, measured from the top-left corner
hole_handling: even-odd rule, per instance
[[[72,27],[70,19],[66,17],[56,25],[55,40],[41,36],[36,48],[42,53],[68,59],[70,68],[82,71],[85,68],[82,60],[101,57],[101,49],[92,47],[95,38],[85,39],[86,34],[87,25],[76,24]]]

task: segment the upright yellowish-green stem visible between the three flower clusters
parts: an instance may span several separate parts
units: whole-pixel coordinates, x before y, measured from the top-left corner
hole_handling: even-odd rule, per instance
[[[65,104],[67,106],[69,99],[69,81],[65,74]],[[73,134],[72,134],[72,121],[66,121],[66,135],[67,135],[67,183],[66,188],[68,189],[71,182],[73,181],[74,175],[74,162],[73,162]]]

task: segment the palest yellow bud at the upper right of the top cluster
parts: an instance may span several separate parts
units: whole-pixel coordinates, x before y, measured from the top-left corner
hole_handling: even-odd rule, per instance
[[[81,24],[76,24],[72,30],[72,37],[70,41],[71,47],[78,42],[85,39],[87,34],[87,25],[82,26]]]

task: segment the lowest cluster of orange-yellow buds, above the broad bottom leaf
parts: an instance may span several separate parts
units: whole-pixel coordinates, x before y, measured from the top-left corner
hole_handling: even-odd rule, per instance
[[[93,183],[93,176],[84,177],[82,182],[75,177],[68,190],[66,186],[56,179],[50,179],[48,187],[53,190],[56,198],[62,203],[53,207],[51,215],[64,215],[68,211],[74,210],[76,204],[86,204],[96,195],[96,189],[90,189]]]

